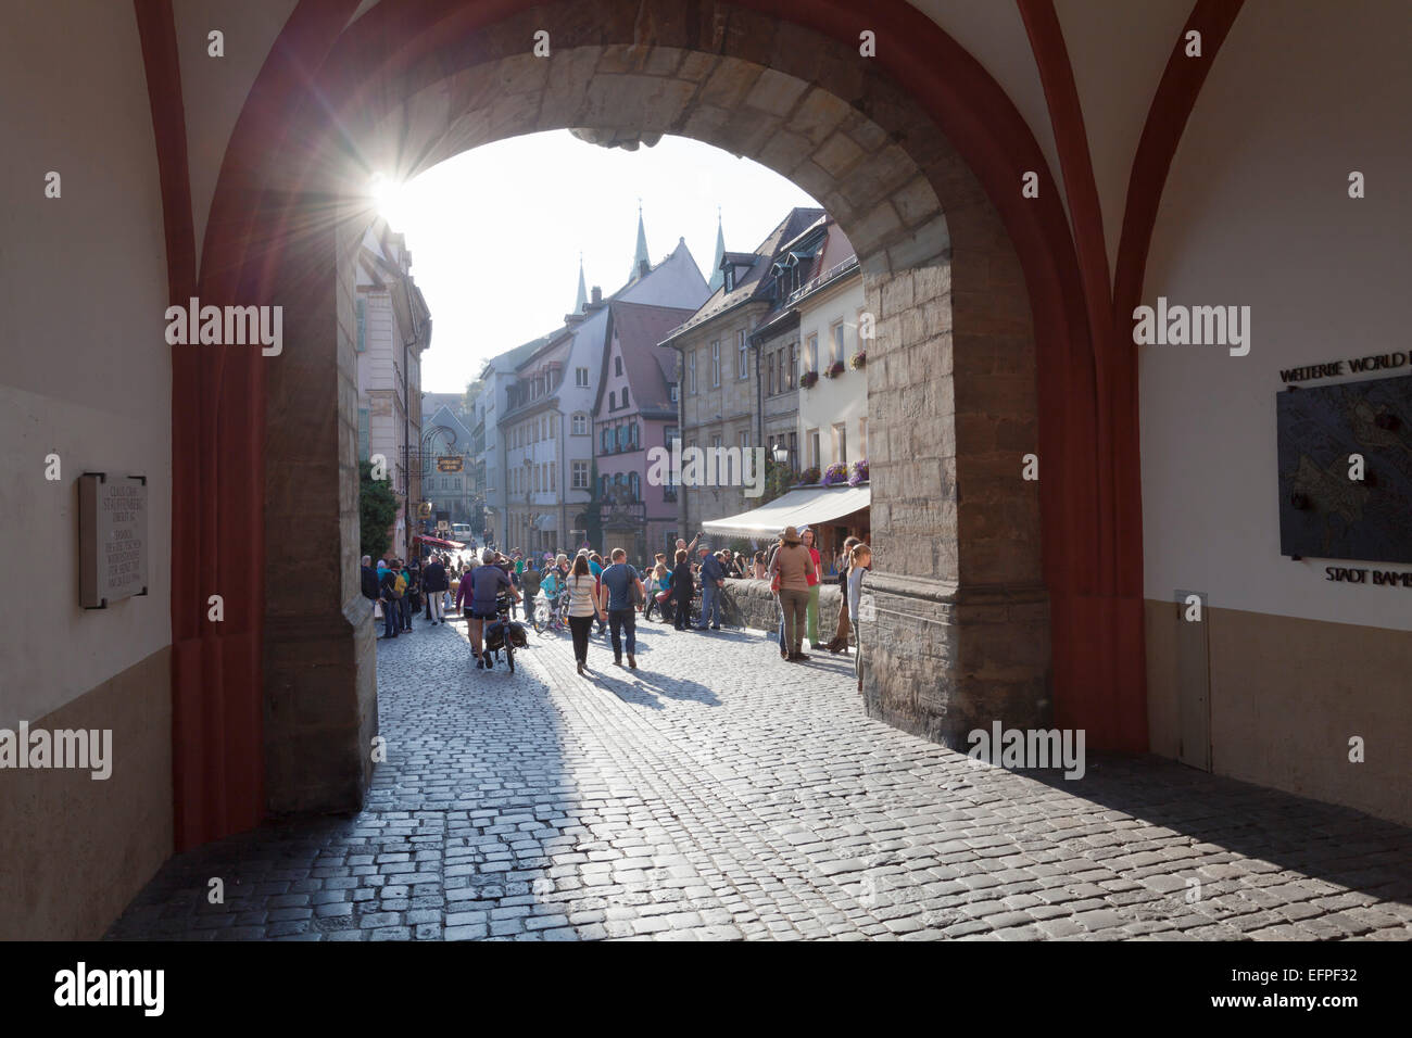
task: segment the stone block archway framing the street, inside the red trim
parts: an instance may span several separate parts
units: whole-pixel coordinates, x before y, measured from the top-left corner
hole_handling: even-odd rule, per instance
[[[227,157],[229,188],[213,206],[203,295],[285,308],[284,354],[250,380],[253,393],[265,380],[270,551],[264,688],[254,693],[265,808],[356,806],[370,772],[376,689],[356,582],[354,362],[340,323],[352,284],[337,273],[350,267],[336,263],[367,219],[367,179],[545,129],[693,137],[789,177],[839,219],[878,318],[867,367],[878,604],[870,644],[880,645],[868,710],[952,746],[991,720],[1043,723],[1041,503],[1019,479],[1019,455],[1042,432],[1031,314],[1060,316],[1038,330],[1070,353],[1082,321],[1058,250],[1035,257],[1053,212],[1038,206],[1048,216],[1021,225],[1022,264],[1014,227],[967,161],[842,32],[724,3],[690,17],[630,0],[549,4],[493,23],[484,8],[436,11],[388,40],[380,32],[395,23],[378,8],[339,37],[329,35],[332,16],[301,6],[287,30],[291,51],[306,61],[332,51],[319,55],[312,83],[295,82],[294,65],[268,96],[257,83],[251,119],[275,120],[278,147],[264,144],[234,169]],[[544,25],[554,27],[551,56],[537,58],[530,49]],[[291,521],[311,531],[297,552],[280,544]]]

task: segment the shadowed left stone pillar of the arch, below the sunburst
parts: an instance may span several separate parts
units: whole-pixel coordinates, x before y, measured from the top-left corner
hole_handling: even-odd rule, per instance
[[[297,212],[328,212],[311,195]],[[360,575],[354,266],[345,216],[292,236],[271,268],[284,350],[265,378],[264,792],[271,815],[363,806],[377,645]],[[393,459],[388,459],[390,462]]]

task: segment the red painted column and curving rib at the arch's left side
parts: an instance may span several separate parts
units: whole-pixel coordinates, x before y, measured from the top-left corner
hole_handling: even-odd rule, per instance
[[[136,0],[138,7],[169,0]],[[305,0],[285,23],[232,133],[201,257],[202,302],[264,304],[247,261],[264,208],[260,155],[280,150],[356,0]],[[179,88],[174,93],[179,102]],[[188,212],[189,212],[188,203]],[[267,243],[265,243],[267,244]],[[195,267],[195,263],[192,263]],[[184,297],[188,294],[184,294]],[[182,302],[185,301],[181,299]],[[278,301],[274,301],[278,302]],[[264,357],[175,347],[172,357],[172,761],[178,850],[264,818]],[[251,493],[251,489],[257,489]],[[206,620],[208,596],[225,620]]]

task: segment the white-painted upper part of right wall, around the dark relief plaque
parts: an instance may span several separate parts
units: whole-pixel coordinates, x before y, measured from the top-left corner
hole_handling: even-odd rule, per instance
[[[1217,607],[1412,630],[1405,590],[1281,556],[1275,455],[1279,369],[1409,346],[1409,40],[1402,0],[1248,3],[1206,82],[1144,301],[1250,305],[1251,352],[1141,353],[1149,599],[1204,590]],[[1348,198],[1351,169],[1365,199]]]

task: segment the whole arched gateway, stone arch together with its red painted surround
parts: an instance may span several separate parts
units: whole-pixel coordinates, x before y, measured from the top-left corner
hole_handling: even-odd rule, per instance
[[[1117,576],[1141,571],[1141,545],[1100,504],[1137,473],[1104,473],[1096,432],[1099,394],[1131,386],[1097,374],[1058,191],[974,59],[899,0],[426,1],[347,24],[356,7],[304,0],[289,18],[206,232],[198,294],[282,306],[282,353],[175,363],[189,404],[174,436],[174,603],[215,580],[236,590],[222,637],[174,604],[178,846],[361,801],[377,713],[346,258],[374,172],[405,178],[551,129],[750,157],[856,246],[877,319],[868,713],[952,746],[993,720],[1053,719],[1090,744],[1145,746],[1141,587]],[[1021,195],[1027,171],[1038,199]],[[1027,453],[1039,483],[1021,477]],[[1124,631],[1134,644],[1118,650]],[[1083,658],[1063,651],[1076,641]]]

